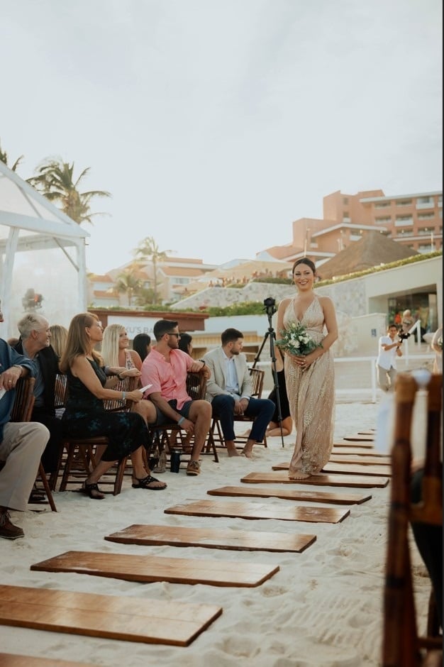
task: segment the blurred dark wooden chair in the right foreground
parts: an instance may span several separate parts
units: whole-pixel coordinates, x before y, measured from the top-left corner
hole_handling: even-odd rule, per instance
[[[384,667],[442,665],[442,635],[418,636],[409,547],[409,524],[443,526],[443,480],[440,449],[442,375],[428,381],[426,452],[421,495],[411,502],[411,421],[418,384],[408,373],[396,377],[395,429],[392,448],[392,497],[389,509],[384,584]],[[441,563],[442,567],[442,563]],[[430,607],[429,609],[433,608]],[[431,623],[428,623],[431,627]],[[440,651],[433,651],[431,649]],[[424,656],[424,650],[429,651]]]

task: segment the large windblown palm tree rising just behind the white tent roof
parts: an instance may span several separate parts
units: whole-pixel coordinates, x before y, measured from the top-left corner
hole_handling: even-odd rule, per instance
[[[28,183],[44,194],[50,202],[60,202],[63,213],[77,224],[92,224],[93,216],[104,213],[91,213],[91,199],[111,197],[111,194],[105,190],[79,192],[79,184],[89,172],[89,168],[84,169],[74,180],[74,162],[70,164],[63,162],[61,158],[46,158],[35,170],[37,175],[28,179]]]

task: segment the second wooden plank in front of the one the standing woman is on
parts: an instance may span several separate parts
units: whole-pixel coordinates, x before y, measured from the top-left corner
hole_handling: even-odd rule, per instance
[[[235,519],[282,519],[338,524],[350,514],[350,509],[336,507],[272,507],[270,503],[223,502],[196,500],[167,507],[165,514],[186,514],[191,517],[233,517]]]

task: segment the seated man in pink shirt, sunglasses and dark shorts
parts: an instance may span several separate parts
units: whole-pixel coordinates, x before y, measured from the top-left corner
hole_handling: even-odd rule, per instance
[[[179,326],[177,322],[160,319],[154,325],[157,344],[142,364],[142,385],[151,384],[145,392],[155,404],[157,421],[162,425],[169,421],[194,434],[194,445],[187,466],[187,475],[199,475],[199,454],[210,428],[211,404],[205,400],[193,401],[187,394],[187,373],[201,371],[208,378],[209,368],[204,361],[194,361],[179,350]],[[150,424],[152,426],[153,424]]]

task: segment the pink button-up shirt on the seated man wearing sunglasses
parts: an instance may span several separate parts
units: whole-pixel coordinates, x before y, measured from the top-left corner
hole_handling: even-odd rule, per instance
[[[192,358],[182,350],[170,352],[170,363],[156,349],[152,350],[143,360],[141,370],[142,386],[152,384],[145,397],[160,392],[166,401],[176,399],[177,409],[182,409],[185,402],[192,400],[187,394],[187,373],[192,365]]]

